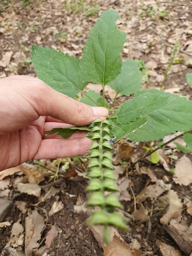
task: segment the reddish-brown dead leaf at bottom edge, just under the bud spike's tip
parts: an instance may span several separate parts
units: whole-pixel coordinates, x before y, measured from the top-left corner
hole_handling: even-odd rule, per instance
[[[117,255],[126,255],[126,256],[134,256],[131,252],[129,245],[127,245],[124,241],[122,242],[119,237],[116,235],[113,237],[112,242],[109,246],[103,247],[103,255],[104,256],[117,256]]]

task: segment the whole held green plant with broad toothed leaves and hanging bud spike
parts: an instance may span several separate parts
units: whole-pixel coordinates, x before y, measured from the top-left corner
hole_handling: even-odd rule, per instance
[[[133,59],[122,61],[120,56],[126,35],[116,26],[119,17],[112,8],[102,13],[91,30],[82,60],[48,47],[32,46],[31,51],[38,78],[53,89],[72,98],[80,92],[81,102],[92,106],[106,106],[113,111],[103,122],[96,119],[89,126],[55,128],[45,132],[56,133],[63,138],[71,136],[77,130],[90,132],[87,137],[93,143],[89,148],[91,160],[87,175],[91,179],[91,185],[88,190],[94,189],[90,192],[88,205],[99,205],[101,211],[92,215],[89,224],[104,225],[106,243],[109,242],[108,225],[126,227],[123,219],[112,212],[114,207],[121,208],[113,195],[117,188],[113,182],[112,156],[108,152],[113,150],[113,141],[125,136],[136,141],[151,141],[192,128],[192,101],[155,89],[140,90],[140,68]],[[84,92],[88,82],[101,84],[102,95],[93,90]],[[106,84],[116,91],[116,96],[119,93],[125,96],[135,93],[135,97],[120,106],[114,106],[115,99],[112,103],[105,99]],[[112,194],[109,198],[105,197],[104,190],[110,189]],[[108,214],[112,214],[112,217]]]

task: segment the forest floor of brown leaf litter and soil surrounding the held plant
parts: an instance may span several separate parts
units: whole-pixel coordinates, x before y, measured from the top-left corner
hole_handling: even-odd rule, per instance
[[[180,51],[163,89],[192,100],[185,78],[192,73],[189,0],[1,0],[0,78],[36,77],[30,55],[33,44],[81,58],[92,27],[108,8],[121,16],[117,26],[127,34],[122,59],[140,60],[143,88],[161,88],[173,46],[179,41]],[[101,92],[99,86],[94,90]],[[113,97],[113,90],[106,91],[106,98]],[[120,95],[116,103],[125,99]],[[181,137],[177,142],[184,145]],[[0,173],[0,199],[13,202],[0,223],[1,255],[189,256],[192,154],[180,152],[170,142],[157,151],[160,161],[152,164],[150,156],[140,160],[145,153],[142,146],[129,139],[114,144],[122,214],[129,219],[130,230],[112,230],[109,248],[103,246],[100,228],[86,224],[90,214],[84,207],[87,158],[39,159]],[[57,171],[58,179],[51,179]]]

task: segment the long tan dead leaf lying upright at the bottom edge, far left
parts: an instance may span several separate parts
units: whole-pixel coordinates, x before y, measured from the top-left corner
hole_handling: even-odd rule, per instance
[[[45,227],[44,218],[33,210],[29,217],[26,217],[25,223],[25,253],[26,256],[32,256],[33,249],[37,248],[37,241],[41,238],[41,232]]]

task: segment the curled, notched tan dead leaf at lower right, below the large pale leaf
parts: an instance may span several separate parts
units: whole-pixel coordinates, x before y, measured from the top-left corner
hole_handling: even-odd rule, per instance
[[[170,189],[165,196],[159,198],[159,202],[160,208],[164,208],[169,204],[166,214],[164,214],[160,219],[161,224],[167,225],[172,218],[180,216],[183,209],[183,203],[174,190]]]

